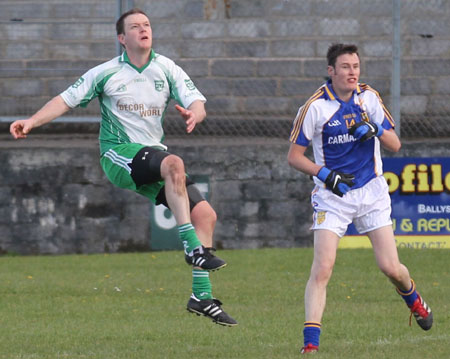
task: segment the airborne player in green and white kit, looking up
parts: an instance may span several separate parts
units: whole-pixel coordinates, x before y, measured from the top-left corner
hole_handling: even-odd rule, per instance
[[[209,271],[226,265],[212,253],[216,213],[186,176],[183,160],[163,144],[162,122],[170,100],[178,103],[190,133],[206,117],[206,99],[179,66],[154,52],[150,20],[142,10],[124,13],[116,30],[122,55],[86,72],[30,118],[13,122],[10,132],[16,139],[26,138],[33,128],[98,97],[100,163],[106,176],[172,211],[186,262],[193,266],[187,310],[234,326],[237,322],[212,296],[209,280]]]

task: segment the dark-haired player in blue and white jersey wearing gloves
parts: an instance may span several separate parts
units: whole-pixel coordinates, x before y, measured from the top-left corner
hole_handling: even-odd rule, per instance
[[[353,223],[366,234],[380,270],[394,284],[424,330],[433,324],[431,309],[416,291],[399,261],[391,200],[382,176],[380,145],[401,147],[394,121],[377,91],[359,83],[360,58],[355,45],[334,44],[327,53],[329,80],[300,107],[294,120],[289,165],[313,176],[314,259],[305,289],[302,353],[319,349],[326,288],[339,239]],[[305,151],[312,143],[314,162]]]

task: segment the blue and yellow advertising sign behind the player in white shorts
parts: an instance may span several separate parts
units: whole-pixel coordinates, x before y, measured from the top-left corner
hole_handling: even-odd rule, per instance
[[[450,248],[450,158],[385,158],[397,247]],[[340,247],[369,247],[350,225]]]

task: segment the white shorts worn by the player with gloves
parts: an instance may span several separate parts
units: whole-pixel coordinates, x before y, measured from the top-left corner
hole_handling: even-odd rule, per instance
[[[344,197],[316,186],[311,204],[314,209],[312,230],[328,229],[342,237],[352,222],[361,234],[392,225],[391,197],[383,176],[348,191]]]

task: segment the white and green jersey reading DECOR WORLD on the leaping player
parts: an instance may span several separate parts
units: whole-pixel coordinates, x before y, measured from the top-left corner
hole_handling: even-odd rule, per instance
[[[123,143],[167,149],[162,124],[170,100],[185,108],[195,100],[206,102],[181,67],[153,50],[142,68],[131,64],[126,52],[92,68],[61,97],[71,108],[99,98],[101,154]]]

